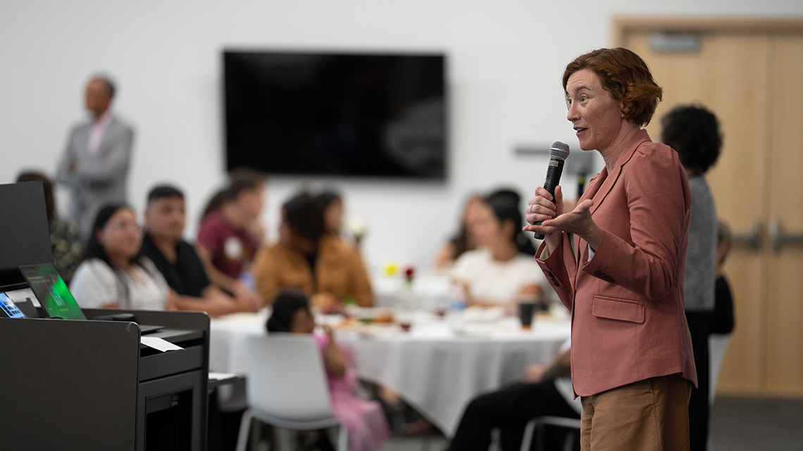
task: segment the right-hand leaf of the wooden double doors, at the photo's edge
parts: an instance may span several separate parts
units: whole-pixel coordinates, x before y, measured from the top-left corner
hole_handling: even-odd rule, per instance
[[[770,217],[803,232],[803,35],[772,39]],[[803,248],[781,247],[769,259],[767,390],[803,396]]]

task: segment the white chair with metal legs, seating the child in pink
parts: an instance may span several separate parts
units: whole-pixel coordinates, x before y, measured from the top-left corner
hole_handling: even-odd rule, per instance
[[[323,360],[308,335],[269,334],[246,343],[247,398],[237,451],[245,451],[251,418],[291,430],[339,426],[338,451],[346,451],[348,435],[329,404]],[[289,445],[289,440],[286,441]],[[288,451],[282,444],[282,451]]]

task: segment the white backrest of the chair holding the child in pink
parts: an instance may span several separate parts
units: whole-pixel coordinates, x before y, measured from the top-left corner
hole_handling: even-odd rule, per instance
[[[272,333],[247,341],[248,404],[287,420],[332,416],[324,363],[309,335]]]

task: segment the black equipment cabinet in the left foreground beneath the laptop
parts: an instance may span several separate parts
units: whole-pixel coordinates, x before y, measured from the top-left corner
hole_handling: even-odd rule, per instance
[[[209,317],[203,313],[84,309],[88,318],[0,318],[0,449],[206,449]]]

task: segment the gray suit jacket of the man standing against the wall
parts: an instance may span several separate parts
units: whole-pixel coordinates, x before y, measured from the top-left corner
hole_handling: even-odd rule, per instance
[[[126,202],[128,164],[134,130],[112,117],[95,154],[89,154],[90,123],[72,129],[67,149],[56,170],[56,181],[72,191],[68,215],[79,225],[81,238],[88,240],[92,221],[100,207]]]

